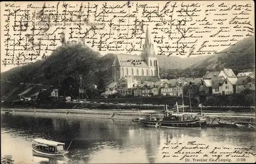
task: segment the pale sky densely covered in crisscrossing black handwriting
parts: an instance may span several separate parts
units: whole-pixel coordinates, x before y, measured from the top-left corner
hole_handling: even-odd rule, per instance
[[[68,41],[139,52],[146,26],[156,54],[166,56],[216,54],[254,34],[252,1],[1,2],[1,9],[4,66],[33,63]]]

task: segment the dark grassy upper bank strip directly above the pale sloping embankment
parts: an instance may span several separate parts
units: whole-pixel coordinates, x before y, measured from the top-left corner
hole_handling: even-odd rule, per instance
[[[168,109],[174,106],[168,106]],[[53,101],[44,104],[37,104],[35,102],[11,102],[2,104],[1,108],[24,108],[24,109],[101,109],[101,110],[158,110],[162,111],[164,108],[163,104],[125,104],[125,103],[97,103],[97,102],[67,102],[67,101]],[[255,113],[255,107],[239,107],[239,106],[207,106],[202,107],[203,112],[211,113],[222,113],[222,112],[242,112],[242,113]],[[184,112],[201,112],[200,107],[189,107],[184,108]]]

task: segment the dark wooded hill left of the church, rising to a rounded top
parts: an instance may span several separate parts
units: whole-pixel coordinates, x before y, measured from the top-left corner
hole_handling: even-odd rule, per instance
[[[28,93],[33,94],[31,91],[37,88],[49,88],[34,87],[30,84],[53,86],[52,88],[60,88],[60,95],[66,93],[76,96],[79,74],[83,79],[82,87],[90,90],[92,94],[93,85],[96,85],[98,90],[103,90],[104,80],[108,80],[109,75],[104,72],[106,70],[99,71],[104,64],[104,58],[101,58],[100,53],[86,45],[58,47],[45,61],[37,61],[1,73],[1,98],[5,96],[9,99],[12,94],[12,97],[16,97],[23,92],[25,96]]]

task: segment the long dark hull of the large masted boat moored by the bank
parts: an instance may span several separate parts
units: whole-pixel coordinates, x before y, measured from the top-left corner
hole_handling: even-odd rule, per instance
[[[187,120],[187,121],[159,121],[159,120],[140,120],[140,123],[145,126],[153,126],[164,128],[196,128],[201,129],[201,121],[198,120]]]

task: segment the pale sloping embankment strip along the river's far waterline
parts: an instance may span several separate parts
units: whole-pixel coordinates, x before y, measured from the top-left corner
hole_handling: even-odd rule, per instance
[[[1,114],[9,112],[9,115],[32,115],[32,116],[54,116],[54,117],[88,117],[88,118],[102,118],[102,119],[123,119],[132,120],[134,118],[144,118],[152,115],[152,117],[163,117],[162,111],[155,110],[79,110],[79,109],[1,109]],[[203,112],[205,113],[205,112]],[[187,113],[188,115],[192,113]],[[194,113],[195,114],[195,113]],[[233,121],[255,121],[255,114],[253,113],[205,113],[206,116],[213,120],[216,117],[222,120]],[[209,122],[210,122],[209,120]]]

